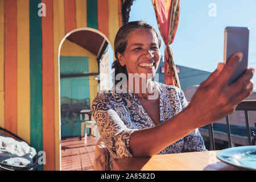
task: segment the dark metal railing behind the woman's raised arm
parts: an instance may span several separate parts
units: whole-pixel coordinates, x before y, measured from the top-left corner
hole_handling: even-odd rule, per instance
[[[242,101],[240,104],[237,105],[236,110],[245,112],[245,122],[246,122],[246,132],[247,132],[248,144],[250,146],[255,145],[256,136],[254,134],[254,131],[250,130],[248,111],[256,111],[256,100]],[[226,127],[227,127],[227,131],[228,131],[228,147],[232,147],[229,115],[226,116]],[[208,130],[209,130],[210,150],[215,150],[213,123],[210,123],[208,125]],[[251,139],[251,135],[253,135],[252,139]]]

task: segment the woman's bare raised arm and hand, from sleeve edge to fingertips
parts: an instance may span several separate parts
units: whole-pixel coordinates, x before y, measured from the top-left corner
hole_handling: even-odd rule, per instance
[[[228,80],[241,59],[242,53],[236,53],[228,64],[219,64],[216,71],[200,84],[189,105],[179,114],[161,125],[134,131],[130,136],[131,154],[158,154],[191,131],[233,113],[237,104],[249,97],[253,90],[253,68],[247,69],[237,82],[228,85]]]

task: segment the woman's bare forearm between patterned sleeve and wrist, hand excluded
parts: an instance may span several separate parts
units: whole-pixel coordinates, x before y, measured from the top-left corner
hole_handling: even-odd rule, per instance
[[[197,128],[196,113],[190,106],[166,122],[155,127],[134,131],[130,137],[130,149],[133,156],[152,156],[177,140],[185,137]]]

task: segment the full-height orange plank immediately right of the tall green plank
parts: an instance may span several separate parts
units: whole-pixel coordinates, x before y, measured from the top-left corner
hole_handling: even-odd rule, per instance
[[[47,15],[42,18],[43,150],[44,170],[55,170],[53,0],[42,0]]]

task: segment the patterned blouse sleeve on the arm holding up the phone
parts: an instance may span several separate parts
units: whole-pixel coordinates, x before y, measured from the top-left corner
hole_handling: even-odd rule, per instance
[[[92,103],[92,115],[98,131],[110,153],[117,158],[132,156],[130,135],[137,129],[129,129],[110,104],[108,94],[98,93]]]

